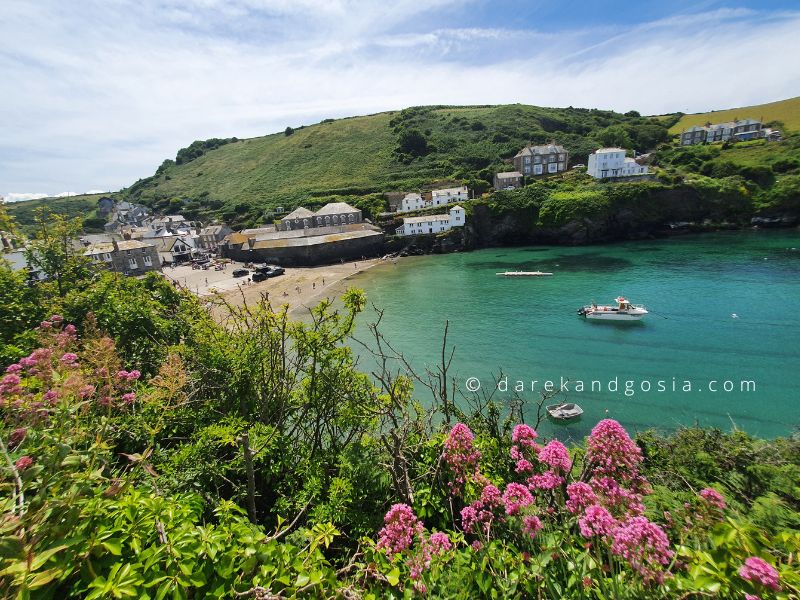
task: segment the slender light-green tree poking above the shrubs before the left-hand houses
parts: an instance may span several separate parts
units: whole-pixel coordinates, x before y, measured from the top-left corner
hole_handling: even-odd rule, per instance
[[[84,279],[89,273],[89,258],[83,255],[76,241],[83,231],[82,220],[38,208],[34,221],[36,238],[25,249],[28,265],[54,280],[58,295],[63,298],[68,284]]]

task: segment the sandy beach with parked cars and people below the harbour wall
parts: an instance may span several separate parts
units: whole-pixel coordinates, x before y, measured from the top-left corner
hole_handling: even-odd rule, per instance
[[[355,262],[337,263],[319,267],[287,268],[283,275],[254,283],[250,275],[233,277],[233,271],[246,268],[242,263],[231,262],[225,270],[192,269],[190,265],[165,267],[164,276],[179,287],[183,287],[201,298],[212,299],[221,296],[232,306],[256,304],[262,297],[268,299],[273,307],[284,304],[289,312],[301,313],[320,301],[334,299],[348,287],[348,278],[363,273],[385,261],[379,258],[359,260]],[[212,313],[219,319],[227,315],[221,306],[216,306]]]

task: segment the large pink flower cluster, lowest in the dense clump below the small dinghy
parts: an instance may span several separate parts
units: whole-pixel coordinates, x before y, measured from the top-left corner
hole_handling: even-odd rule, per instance
[[[611,537],[611,552],[627,560],[645,582],[664,581],[663,567],[669,564],[674,552],[661,527],[646,517],[632,517],[615,527]]]

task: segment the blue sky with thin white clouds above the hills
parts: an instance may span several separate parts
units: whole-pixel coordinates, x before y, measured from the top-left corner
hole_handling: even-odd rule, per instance
[[[797,1],[2,0],[0,196],[196,139],[424,104],[704,112],[800,94]]]

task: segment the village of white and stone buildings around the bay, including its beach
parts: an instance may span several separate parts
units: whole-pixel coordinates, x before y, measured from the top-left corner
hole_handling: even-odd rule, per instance
[[[684,130],[680,146],[748,141],[780,141],[781,132],[756,119],[707,123]],[[633,156],[631,156],[633,154]],[[513,170],[494,174],[494,191],[508,191],[567,171],[585,172],[600,181],[636,181],[653,177],[649,154],[630,149],[597,148],[587,164],[570,162],[569,150],[551,140],[528,144],[509,161]],[[430,238],[467,225],[462,206],[474,198],[466,185],[386,193],[388,212],[376,215],[380,225],[345,202],[313,211],[298,206],[278,211],[271,223],[234,231],[225,223],[204,224],[183,215],[154,215],[142,205],[104,196],[97,213],[105,232],[74,240],[76,248],[98,268],[124,276],[156,271],[198,296],[222,295],[234,303],[272,295],[278,303],[307,306],[342,279],[380,262],[414,253],[419,238]],[[396,252],[387,252],[393,240]],[[3,236],[5,258],[15,270],[28,269],[25,248]],[[409,250],[411,249],[411,250]],[[419,252],[417,252],[419,253]],[[268,282],[268,283],[267,283]]]

